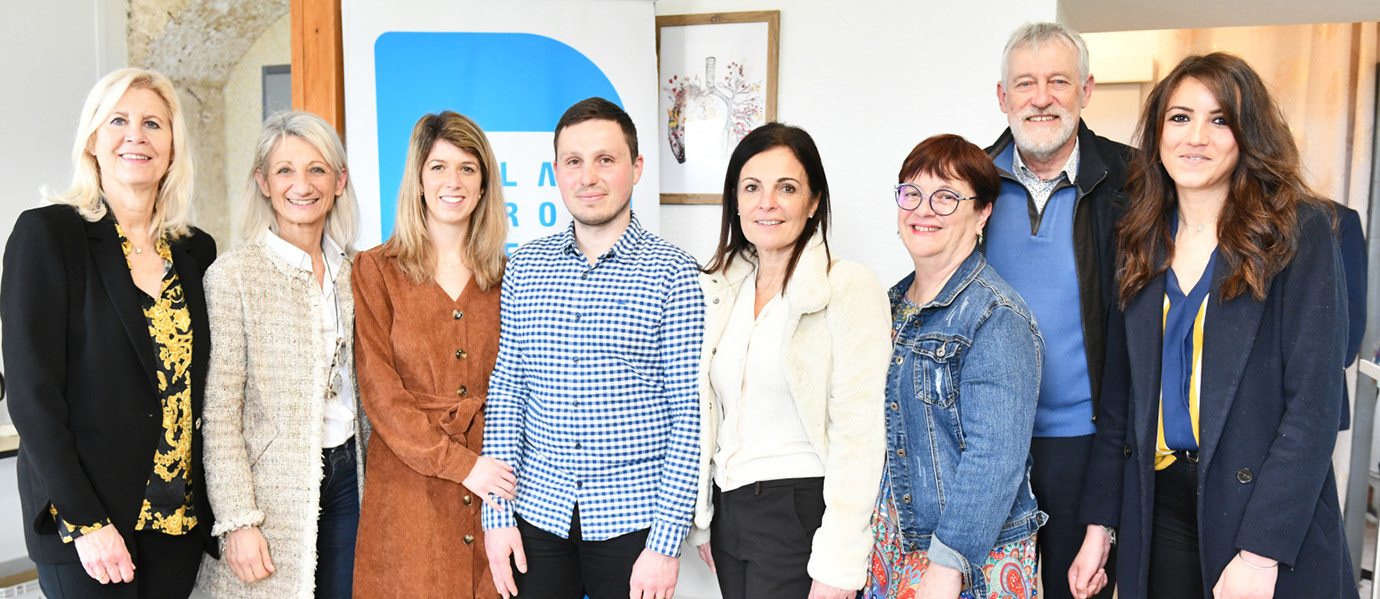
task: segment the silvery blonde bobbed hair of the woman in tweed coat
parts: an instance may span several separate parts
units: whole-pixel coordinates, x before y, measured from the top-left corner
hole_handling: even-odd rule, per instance
[[[345,146],[335,128],[324,119],[302,110],[273,115],[264,121],[264,132],[259,134],[254,149],[254,168],[250,168],[248,181],[244,184],[244,206],[240,208],[243,210],[240,232],[244,239],[258,237],[265,230],[277,232],[273,202],[259,189],[254,175],[262,173],[268,177],[268,163],[287,137],[295,137],[316,148],[335,171],[333,175],[349,173],[345,164]],[[326,215],[326,235],[345,253],[353,253],[355,237],[359,235],[359,202],[355,199],[355,184],[349,177],[345,178],[345,192],[335,197],[330,214]]]

